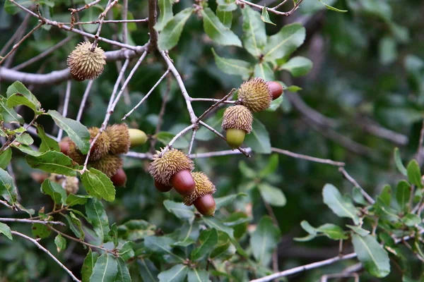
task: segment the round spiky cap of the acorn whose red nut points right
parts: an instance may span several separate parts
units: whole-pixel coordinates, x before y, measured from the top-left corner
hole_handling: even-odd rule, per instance
[[[243,82],[238,90],[237,98],[252,113],[256,113],[257,111],[264,111],[269,108],[272,101],[272,94],[265,80],[262,78],[253,78]]]

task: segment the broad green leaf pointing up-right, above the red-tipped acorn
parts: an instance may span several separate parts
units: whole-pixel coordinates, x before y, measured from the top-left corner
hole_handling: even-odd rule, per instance
[[[264,60],[273,61],[292,54],[305,41],[305,35],[305,27],[299,23],[284,25],[276,35],[268,38]]]

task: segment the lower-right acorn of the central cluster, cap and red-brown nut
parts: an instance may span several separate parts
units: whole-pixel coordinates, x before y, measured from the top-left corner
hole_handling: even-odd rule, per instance
[[[215,200],[212,197],[212,194],[216,192],[215,185],[203,172],[193,172],[192,176],[196,182],[196,188],[192,195],[184,197],[184,204],[186,206],[194,204],[194,207],[204,216],[213,216],[216,209]]]

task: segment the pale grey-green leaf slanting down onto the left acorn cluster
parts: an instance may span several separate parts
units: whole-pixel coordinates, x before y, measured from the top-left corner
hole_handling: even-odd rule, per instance
[[[71,118],[61,116],[61,114],[57,111],[49,110],[47,111],[47,114],[52,116],[54,123],[56,123],[59,128],[68,133],[69,138],[75,142],[81,153],[88,153],[88,149],[90,149],[90,133],[84,125],[82,125],[79,121],[74,121]]]

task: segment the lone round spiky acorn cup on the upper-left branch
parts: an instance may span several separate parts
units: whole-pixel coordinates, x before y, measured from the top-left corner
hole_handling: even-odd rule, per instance
[[[69,54],[66,62],[73,79],[93,80],[102,74],[106,64],[105,51],[100,47],[95,47],[91,51],[92,44],[90,42],[81,42]]]

